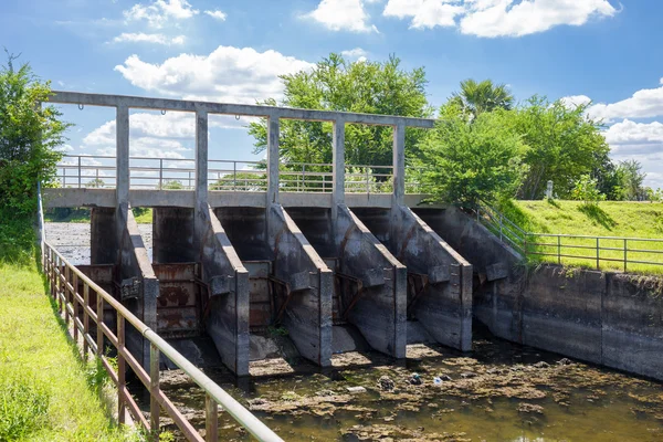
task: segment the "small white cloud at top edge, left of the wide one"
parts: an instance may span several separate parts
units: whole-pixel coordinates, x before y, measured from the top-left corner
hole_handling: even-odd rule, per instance
[[[317,8],[304,15],[332,31],[378,32],[369,23],[370,15],[364,9],[362,0],[322,0]]]

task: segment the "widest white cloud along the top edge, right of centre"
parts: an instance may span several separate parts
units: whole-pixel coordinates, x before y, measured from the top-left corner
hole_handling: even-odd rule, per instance
[[[612,17],[609,0],[389,0],[382,14],[411,19],[410,28],[459,27],[464,34],[522,36],[561,24]]]

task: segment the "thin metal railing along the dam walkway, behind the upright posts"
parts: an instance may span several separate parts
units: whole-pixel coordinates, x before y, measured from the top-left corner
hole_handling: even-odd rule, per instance
[[[406,192],[424,193],[420,169],[406,170]],[[278,188],[284,192],[333,191],[332,164],[283,162],[280,165]],[[347,165],[345,191],[348,193],[391,193],[392,166]],[[115,188],[115,157],[65,155],[57,165],[59,187]],[[191,190],[196,185],[196,160],[186,158],[129,158],[129,181],[134,189]],[[210,190],[266,191],[265,161],[208,161]]]

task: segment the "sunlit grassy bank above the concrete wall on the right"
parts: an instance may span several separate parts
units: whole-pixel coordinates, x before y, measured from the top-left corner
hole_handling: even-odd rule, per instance
[[[530,233],[560,233],[590,236],[620,236],[663,239],[663,204],[649,202],[603,201],[598,207],[588,207],[579,201],[512,201],[501,210],[504,214]],[[557,253],[557,239],[529,236],[532,243],[555,245],[529,245],[529,251]],[[565,245],[581,245],[590,249],[572,249]],[[596,269],[596,239],[562,238],[561,253],[585,257],[562,257],[561,263],[571,266]],[[636,252],[655,250],[663,252],[663,242],[628,241],[627,270],[635,273],[663,274],[663,265],[635,264],[631,261],[649,261],[663,264],[663,253]],[[623,260],[623,240],[600,240],[601,259]],[[557,256],[541,256],[539,261],[557,262]],[[535,257],[536,261],[536,257]],[[600,261],[602,270],[623,271],[622,262]]]

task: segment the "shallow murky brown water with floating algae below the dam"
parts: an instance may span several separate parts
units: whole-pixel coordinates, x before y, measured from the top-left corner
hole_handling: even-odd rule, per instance
[[[287,441],[661,441],[661,385],[496,339],[472,354],[250,380],[211,375]],[[421,385],[411,385],[412,373]],[[388,378],[388,381],[385,379]],[[434,378],[440,380],[435,385]],[[391,382],[392,381],[392,382]],[[366,391],[350,393],[347,387]],[[203,396],[165,382],[199,428]],[[225,414],[221,440],[251,440]]]

